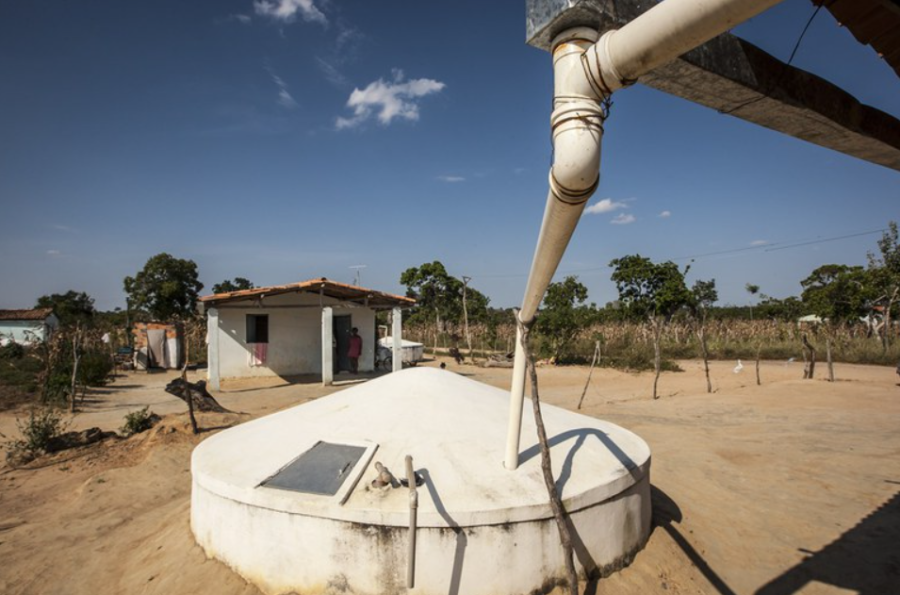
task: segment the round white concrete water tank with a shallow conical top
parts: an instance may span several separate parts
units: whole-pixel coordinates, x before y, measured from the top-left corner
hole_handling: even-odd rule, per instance
[[[503,466],[508,393],[409,369],[223,431],[192,458],[191,528],[266,593],[518,595],[564,580],[527,411]],[[529,409],[526,403],[526,409]],[[618,426],[543,406],[580,572],[628,561],[650,531],[650,450]],[[409,495],[372,485],[381,462],[421,478],[415,587]]]

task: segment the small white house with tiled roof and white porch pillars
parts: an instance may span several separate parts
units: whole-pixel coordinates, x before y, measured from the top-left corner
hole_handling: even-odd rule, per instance
[[[375,369],[377,310],[392,310],[400,336],[401,308],[415,300],[324,277],[200,298],[207,313],[208,377],[221,380],[318,374],[331,384],[350,370],[350,331],[359,330],[359,371]],[[323,348],[324,347],[324,348]],[[399,369],[402,355],[394,355]]]

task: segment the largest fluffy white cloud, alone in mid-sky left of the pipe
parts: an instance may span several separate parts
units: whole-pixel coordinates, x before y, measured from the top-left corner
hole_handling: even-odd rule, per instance
[[[403,82],[403,71],[393,70],[393,81],[378,79],[365,89],[353,89],[347,107],[353,110],[353,117],[339,117],[335,122],[338,130],[353,128],[378,112],[378,121],[388,125],[394,118],[415,121],[419,119],[416,99],[437,93],[446,85],[434,79],[413,79]]]

